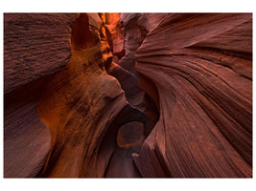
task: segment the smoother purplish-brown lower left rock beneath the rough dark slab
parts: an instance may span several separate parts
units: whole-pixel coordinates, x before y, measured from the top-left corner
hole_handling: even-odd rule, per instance
[[[50,149],[50,133],[37,116],[38,98],[49,77],[5,95],[4,177],[35,177]]]

